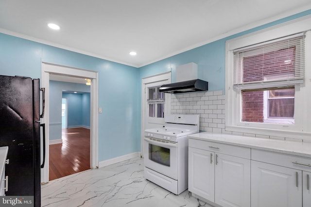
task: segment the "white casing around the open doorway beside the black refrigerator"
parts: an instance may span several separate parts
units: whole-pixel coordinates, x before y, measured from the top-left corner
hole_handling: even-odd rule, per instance
[[[98,168],[98,72],[63,65],[41,63],[41,87],[45,88],[45,113],[41,123],[45,123],[45,167],[41,169],[41,183],[49,182],[49,114],[50,114],[50,74],[87,78],[91,80],[90,114],[90,168]]]

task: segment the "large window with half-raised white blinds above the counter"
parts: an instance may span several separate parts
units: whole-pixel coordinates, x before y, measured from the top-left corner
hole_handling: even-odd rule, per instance
[[[234,50],[233,62],[233,85],[242,94],[240,121],[294,124],[291,84],[304,79],[304,33]]]

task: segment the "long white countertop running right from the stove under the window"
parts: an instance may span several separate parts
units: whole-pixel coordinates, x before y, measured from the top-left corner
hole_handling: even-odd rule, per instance
[[[212,132],[200,132],[188,135],[188,137],[209,142],[225,143],[311,158],[311,143],[306,142],[274,140]]]

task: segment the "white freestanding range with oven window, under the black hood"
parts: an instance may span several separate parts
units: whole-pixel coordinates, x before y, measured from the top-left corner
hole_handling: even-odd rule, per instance
[[[199,132],[199,115],[172,114],[165,126],[144,132],[144,176],[178,195],[188,189],[188,137]]]

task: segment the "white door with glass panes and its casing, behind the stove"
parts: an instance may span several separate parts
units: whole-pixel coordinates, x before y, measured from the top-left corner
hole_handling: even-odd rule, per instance
[[[164,125],[164,117],[171,111],[171,94],[158,93],[163,84],[171,83],[171,72],[141,80],[141,156],[144,130]]]

